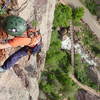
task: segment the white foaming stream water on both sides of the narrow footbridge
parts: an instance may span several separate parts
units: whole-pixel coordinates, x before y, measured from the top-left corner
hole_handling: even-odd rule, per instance
[[[66,36],[66,39],[62,41],[62,49],[71,50],[71,39]],[[97,63],[89,54],[86,53],[84,48],[78,42],[74,44],[75,53],[80,54],[81,58],[84,59],[89,65],[97,66]]]

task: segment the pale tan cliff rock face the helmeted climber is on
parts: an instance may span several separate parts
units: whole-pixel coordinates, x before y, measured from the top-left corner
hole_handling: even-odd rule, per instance
[[[33,19],[38,21],[37,29],[43,36],[44,55],[49,47],[55,3],[55,0],[18,0],[19,16],[29,22]],[[7,49],[8,55],[15,50]],[[27,59],[23,57],[17,62],[17,67],[0,74],[0,100],[38,100],[36,56],[31,56],[29,61]]]

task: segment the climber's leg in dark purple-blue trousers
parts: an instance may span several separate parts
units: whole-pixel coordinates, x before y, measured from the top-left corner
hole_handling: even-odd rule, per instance
[[[41,50],[41,45],[36,45],[34,48],[32,49],[32,53],[35,54],[37,52],[39,52]],[[15,52],[14,54],[12,54],[5,62],[4,64],[1,66],[3,69],[7,70],[11,67],[13,67],[15,65],[15,63],[21,59],[23,56],[28,55],[28,47],[25,46],[21,49],[19,49],[17,52]]]

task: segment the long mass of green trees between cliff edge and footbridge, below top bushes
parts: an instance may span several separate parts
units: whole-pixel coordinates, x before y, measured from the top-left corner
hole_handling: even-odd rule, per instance
[[[78,86],[69,78],[73,73],[70,54],[62,51],[58,32],[53,30],[50,49],[47,52],[45,71],[42,73],[40,89],[50,100],[63,100],[75,95]]]

